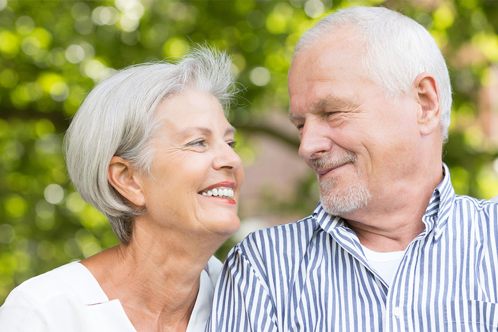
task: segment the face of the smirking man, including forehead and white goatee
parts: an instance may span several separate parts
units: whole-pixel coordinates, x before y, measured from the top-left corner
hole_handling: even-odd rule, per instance
[[[336,30],[299,53],[288,76],[299,154],[317,175],[326,211],[348,219],[409,190],[420,136],[416,94],[386,99],[365,75],[362,48],[354,30]]]

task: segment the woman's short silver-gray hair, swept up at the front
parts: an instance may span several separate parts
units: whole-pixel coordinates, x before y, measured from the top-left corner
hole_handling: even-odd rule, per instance
[[[121,156],[149,174],[154,151],[150,137],[158,128],[154,110],[165,98],[188,89],[217,98],[228,115],[236,93],[231,60],[225,52],[195,47],[176,63],[130,66],[98,83],[76,112],[64,138],[69,176],[81,197],[101,211],[122,243],[129,243],[141,213],[109,184],[111,158]]]

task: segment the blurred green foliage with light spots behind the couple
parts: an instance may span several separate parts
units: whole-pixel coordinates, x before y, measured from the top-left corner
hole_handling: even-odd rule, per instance
[[[493,87],[498,93],[497,2],[366,3],[401,10],[436,38],[454,87],[444,160],[456,191],[497,195],[497,141],[483,115],[492,107],[482,102]],[[331,9],[353,4],[0,0],[0,304],[27,278],[117,243],[106,219],[74,192],[61,154],[69,119],[96,82],[127,65],[174,60],[206,40],[233,54],[238,82],[247,87],[250,103],[231,114],[243,159],[255,132],[297,146],[297,135],[268,126],[264,116],[288,107],[286,72],[300,34]],[[264,198],[266,209],[306,216],[316,203],[305,198],[313,181],[303,179],[292,202]],[[218,252],[221,259],[232,244]]]

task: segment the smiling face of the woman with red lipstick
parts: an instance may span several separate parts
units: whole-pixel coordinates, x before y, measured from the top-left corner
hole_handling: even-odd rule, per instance
[[[147,219],[168,232],[239,229],[242,162],[219,101],[188,90],[158,105],[151,175],[142,179]],[[210,196],[211,195],[211,196]]]

